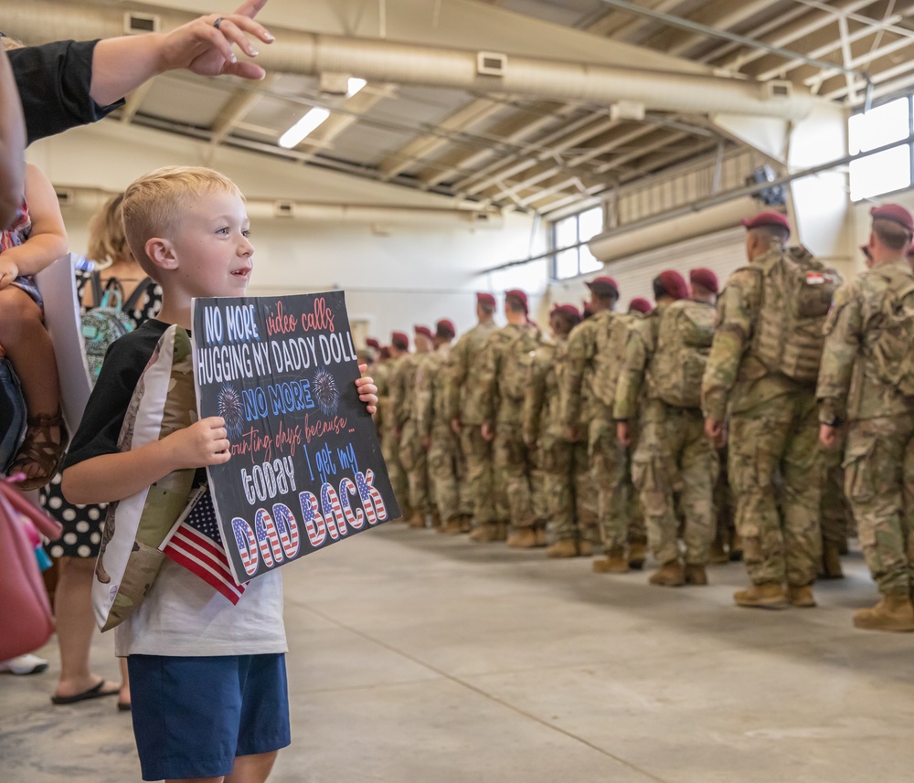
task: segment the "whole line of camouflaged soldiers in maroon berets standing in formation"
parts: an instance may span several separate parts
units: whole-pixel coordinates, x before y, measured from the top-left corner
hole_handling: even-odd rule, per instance
[[[880,600],[867,630],[914,631],[914,219],[874,207],[866,271],[845,283],[786,217],[743,221],[747,264],[654,279],[620,312],[608,276],[585,312],[528,318],[524,291],[476,295],[478,323],[396,332],[372,370],[377,426],[409,524],[484,545],[600,554],[658,587],[742,559],[741,607],[812,608],[856,528]]]

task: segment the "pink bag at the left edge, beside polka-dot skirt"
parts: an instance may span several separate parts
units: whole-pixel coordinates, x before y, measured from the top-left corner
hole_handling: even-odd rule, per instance
[[[0,661],[37,650],[54,632],[29,528],[34,525],[52,540],[63,529],[13,487],[11,481],[21,478],[0,480]]]

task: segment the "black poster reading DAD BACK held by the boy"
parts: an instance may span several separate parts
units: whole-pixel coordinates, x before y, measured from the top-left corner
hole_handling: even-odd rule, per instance
[[[195,299],[193,320],[199,414],[231,443],[207,471],[239,585],[399,517],[342,291]]]

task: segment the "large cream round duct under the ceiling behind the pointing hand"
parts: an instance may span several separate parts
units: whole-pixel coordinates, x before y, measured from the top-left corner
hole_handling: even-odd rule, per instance
[[[132,14],[108,6],[33,0],[5,8],[4,27],[29,43],[64,37],[113,37],[124,34],[125,20],[129,24]],[[163,30],[195,18],[170,10],[156,10],[153,16]],[[790,82],[619,68],[275,26],[271,32],[276,42],[260,48],[258,62],[268,71],[282,73],[340,73],[374,81],[553,101],[632,101],[648,111],[724,112],[794,121],[802,120],[813,106],[810,91]]]

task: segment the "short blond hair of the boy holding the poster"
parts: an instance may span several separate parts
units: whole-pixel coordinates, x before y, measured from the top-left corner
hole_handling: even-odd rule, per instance
[[[165,166],[134,180],[123,193],[121,212],[127,244],[143,271],[154,280],[155,265],[146,242],[170,238],[186,205],[199,196],[230,193],[244,196],[226,175],[204,166]]]

